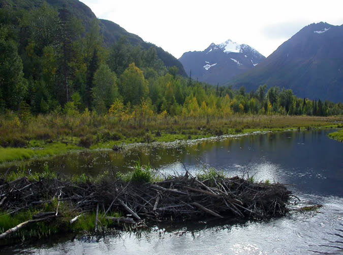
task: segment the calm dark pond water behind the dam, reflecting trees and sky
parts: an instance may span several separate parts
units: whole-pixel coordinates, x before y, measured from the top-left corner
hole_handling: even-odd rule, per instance
[[[196,173],[214,167],[231,176],[248,172],[257,181],[291,184],[297,191],[343,196],[343,144],[330,140],[329,132],[269,132],[191,143],[133,145],[122,152],[85,151],[57,156],[48,160],[48,165],[67,175],[129,171],[138,160],[164,175],[183,174],[185,168]],[[44,162],[35,160],[27,167],[41,171]],[[1,171],[8,171],[8,167]]]

